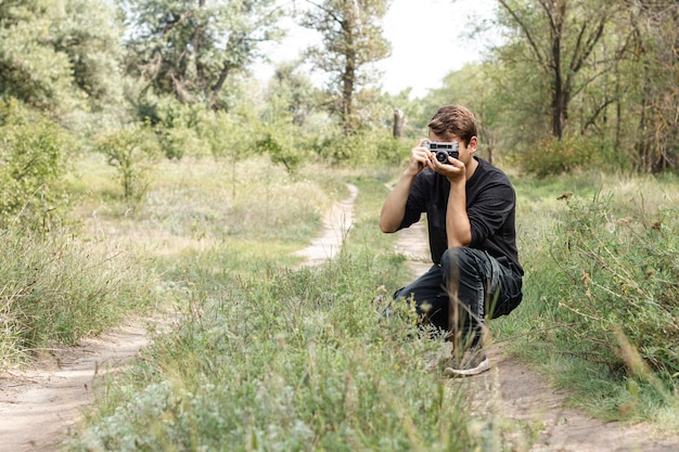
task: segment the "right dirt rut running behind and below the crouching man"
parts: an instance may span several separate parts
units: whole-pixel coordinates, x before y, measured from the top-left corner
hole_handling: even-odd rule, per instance
[[[424,221],[399,231],[397,249],[409,257],[414,275],[431,267]],[[498,439],[514,451],[559,452],[670,452],[679,451],[679,438],[662,437],[651,426],[625,426],[620,423],[603,423],[580,411],[565,408],[567,393],[554,391],[547,378],[529,366],[507,358],[496,345],[488,357],[492,367],[485,374],[451,385],[471,385],[470,402],[482,418],[503,419],[508,435]],[[514,424],[509,425],[508,424]],[[524,438],[528,426],[537,434],[528,449]],[[523,428],[524,434],[518,434]],[[497,448],[499,450],[500,447]],[[494,449],[496,450],[496,449]]]

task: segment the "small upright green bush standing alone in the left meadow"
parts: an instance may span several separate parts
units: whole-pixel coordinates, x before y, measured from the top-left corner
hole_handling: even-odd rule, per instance
[[[133,126],[102,134],[97,139],[97,150],[118,171],[125,201],[141,202],[149,189],[146,172],[157,154],[157,143],[149,128]]]

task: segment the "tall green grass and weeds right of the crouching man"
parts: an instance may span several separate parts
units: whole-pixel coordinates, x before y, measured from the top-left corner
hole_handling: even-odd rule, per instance
[[[679,411],[678,185],[595,173],[517,184],[526,296],[496,328],[598,416],[676,428],[664,413]]]

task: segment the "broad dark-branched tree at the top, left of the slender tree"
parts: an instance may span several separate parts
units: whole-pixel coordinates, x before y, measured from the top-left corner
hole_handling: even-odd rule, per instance
[[[277,40],[274,0],[129,0],[128,72],[156,93],[218,109],[229,77]]]

